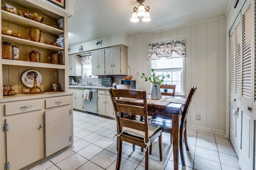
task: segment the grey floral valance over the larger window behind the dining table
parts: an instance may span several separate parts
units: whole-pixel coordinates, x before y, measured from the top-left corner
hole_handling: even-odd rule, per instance
[[[185,39],[148,45],[148,60],[160,59],[162,57],[167,59],[186,57]]]

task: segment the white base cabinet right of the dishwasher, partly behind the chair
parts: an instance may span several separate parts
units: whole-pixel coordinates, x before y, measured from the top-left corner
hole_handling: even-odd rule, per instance
[[[98,114],[114,118],[114,107],[108,90],[98,89]]]

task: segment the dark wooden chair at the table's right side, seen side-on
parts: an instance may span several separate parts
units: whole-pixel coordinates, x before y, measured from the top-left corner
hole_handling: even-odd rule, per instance
[[[183,142],[185,142],[186,145],[186,150],[188,151],[188,141],[187,141],[187,132],[186,132],[186,125],[187,125],[187,115],[188,115],[188,108],[190,106],[190,103],[192,101],[192,97],[196,92],[197,87],[192,87],[188,98],[186,100],[185,103],[185,107],[184,110],[181,114],[181,119],[180,119],[180,142],[179,142],[179,146],[180,146],[180,158],[181,158],[181,163],[183,166],[185,166],[185,159],[184,159],[184,151],[183,151]],[[157,120],[157,119],[156,119]],[[163,128],[166,128],[166,126],[170,129],[170,134],[172,136],[172,120],[170,120],[168,123],[163,123],[163,122],[159,122],[159,121],[152,121],[151,123],[154,123],[156,125],[160,125]],[[151,150],[151,146],[150,146],[150,150]]]

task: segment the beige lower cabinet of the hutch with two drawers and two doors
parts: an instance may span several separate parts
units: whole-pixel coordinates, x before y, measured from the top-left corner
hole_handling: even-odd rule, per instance
[[[0,102],[0,169],[29,169],[73,144],[72,93],[25,99]]]

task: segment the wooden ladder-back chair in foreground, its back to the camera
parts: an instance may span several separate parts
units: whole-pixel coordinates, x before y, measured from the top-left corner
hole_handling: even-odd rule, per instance
[[[156,138],[158,138],[160,161],[162,161],[162,128],[158,125],[148,123],[146,90],[141,91],[133,89],[109,89],[109,93],[114,106],[118,126],[116,134],[118,147],[116,170],[120,169],[122,141],[126,141],[145,148],[145,169],[148,170],[148,146],[152,144]],[[143,105],[138,106],[135,105],[136,103],[118,103],[117,99],[121,97],[143,100]],[[144,116],[145,119],[144,121],[136,121],[122,118],[120,113],[124,112]]]

